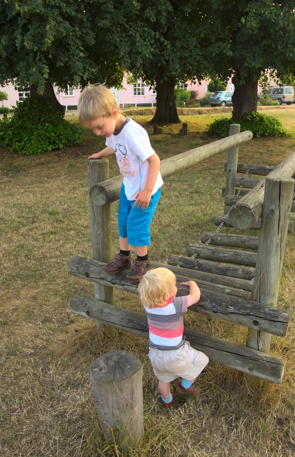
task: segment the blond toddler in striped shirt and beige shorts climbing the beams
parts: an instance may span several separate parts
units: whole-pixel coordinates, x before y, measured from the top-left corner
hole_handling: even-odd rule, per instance
[[[177,377],[182,377],[177,383],[179,393],[200,393],[200,386],[194,381],[209,361],[208,356],[196,351],[184,340],[183,313],[200,300],[200,289],[194,281],[182,284],[190,287],[190,294],[176,298],[174,273],[168,268],[155,268],[147,271],[138,286],[139,297],[147,311],[150,346],[148,357],[167,408],[172,405],[174,393],[170,383]]]

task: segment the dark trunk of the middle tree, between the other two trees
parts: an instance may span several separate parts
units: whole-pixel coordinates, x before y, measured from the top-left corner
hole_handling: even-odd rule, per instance
[[[162,81],[156,79],[157,107],[150,123],[155,124],[178,124],[180,119],[177,114],[174,98],[175,80]]]

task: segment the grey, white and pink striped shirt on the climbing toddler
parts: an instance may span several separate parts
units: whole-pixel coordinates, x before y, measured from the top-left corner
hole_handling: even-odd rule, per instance
[[[187,312],[187,297],[171,297],[166,306],[144,309],[147,312],[149,345],[162,351],[178,349],[184,344],[183,313]]]

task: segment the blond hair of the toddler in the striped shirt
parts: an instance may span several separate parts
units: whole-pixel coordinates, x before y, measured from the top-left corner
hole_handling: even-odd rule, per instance
[[[176,277],[168,268],[148,270],[138,286],[142,305],[147,308],[165,306],[164,296],[175,286]]]

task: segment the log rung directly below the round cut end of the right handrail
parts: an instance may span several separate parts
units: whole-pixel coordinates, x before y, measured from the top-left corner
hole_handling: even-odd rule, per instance
[[[211,244],[216,246],[228,246],[232,248],[242,249],[258,249],[258,236],[247,235],[229,235],[227,233],[203,232],[201,234],[202,243],[206,243],[208,239],[212,239]]]

